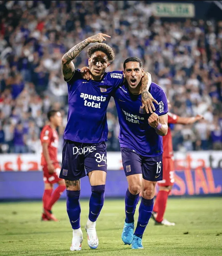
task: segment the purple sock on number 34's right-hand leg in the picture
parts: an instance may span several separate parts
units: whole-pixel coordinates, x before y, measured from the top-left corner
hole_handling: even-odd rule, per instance
[[[91,186],[92,194],[89,200],[89,220],[96,221],[104,203],[105,185]]]

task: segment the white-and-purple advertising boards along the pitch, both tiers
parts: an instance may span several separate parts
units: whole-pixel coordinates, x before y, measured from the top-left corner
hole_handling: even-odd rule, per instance
[[[41,198],[43,176],[40,160],[41,154],[1,155],[0,200]],[[109,171],[106,179],[106,197],[125,196],[128,185],[122,167],[121,153],[108,152],[107,165]],[[222,151],[176,152],[174,169],[175,183],[170,195],[222,195]],[[89,197],[91,188],[88,186],[87,177],[81,180],[81,187],[82,197]],[[155,194],[157,189],[158,186]]]

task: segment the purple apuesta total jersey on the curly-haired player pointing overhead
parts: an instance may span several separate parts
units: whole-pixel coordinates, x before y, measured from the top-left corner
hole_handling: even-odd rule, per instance
[[[113,90],[123,83],[120,71],[107,72],[99,81],[85,80],[75,69],[68,84],[68,120],[64,138],[82,143],[107,140],[106,109]]]

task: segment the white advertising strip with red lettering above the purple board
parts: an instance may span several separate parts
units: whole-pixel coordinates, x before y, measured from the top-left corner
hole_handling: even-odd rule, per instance
[[[62,162],[62,154],[58,155]],[[108,170],[123,170],[120,152],[107,153]],[[174,153],[174,169],[222,169],[222,151],[190,151]],[[0,171],[42,171],[41,154],[1,154]]]

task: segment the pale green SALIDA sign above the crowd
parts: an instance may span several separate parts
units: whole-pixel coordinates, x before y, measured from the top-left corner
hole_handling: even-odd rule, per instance
[[[192,3],[152,3],[155,16],[193,18],[195,6]]]

